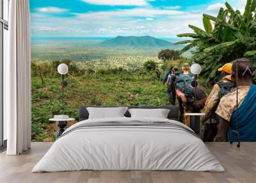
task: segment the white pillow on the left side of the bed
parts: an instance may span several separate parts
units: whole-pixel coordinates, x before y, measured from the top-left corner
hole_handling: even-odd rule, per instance
[[[128,107],[86,107],[89,113],[89,119],[96,118],[120,118],[125,117],[124,114]]]

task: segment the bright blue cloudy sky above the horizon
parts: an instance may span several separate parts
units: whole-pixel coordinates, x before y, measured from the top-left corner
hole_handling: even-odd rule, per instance
[[[243,12],[246,0],[227,0]],[[32,36],[173,38],[202,28],[202,13],[216,15],[222,0],[30,0]]]

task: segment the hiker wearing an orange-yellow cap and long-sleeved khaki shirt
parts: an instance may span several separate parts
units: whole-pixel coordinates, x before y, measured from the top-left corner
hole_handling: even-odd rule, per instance
[[[204,141],[213,141],[217,131],[217,121],[215,111],[220,103],[220,99],[231,92],[234,89],[234,83],[231,80],[232,63],[226,63],[223,67],[219,68],[222,79],[218,83],[214,84],[212,92],[208,96],[202,113],[201,123],[204,127]]]

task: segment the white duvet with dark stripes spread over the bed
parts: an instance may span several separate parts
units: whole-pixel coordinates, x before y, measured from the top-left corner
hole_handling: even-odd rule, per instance
[[[93,122],[170,122],[160,118],[105,118]],[[186,127],[189,129],[188,127]],[[64,133],[65,133],[64,132]],[[57,139],[32,172],[73,170],[225,171],[200,138],[168,127],[92,127]]]

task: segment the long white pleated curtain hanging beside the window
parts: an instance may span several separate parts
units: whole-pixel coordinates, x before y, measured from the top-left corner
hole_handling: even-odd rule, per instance
[[[31,145],[31,43],[29,0],[10,1],[8,61],[4,63],[4,120],[8,155]]]

